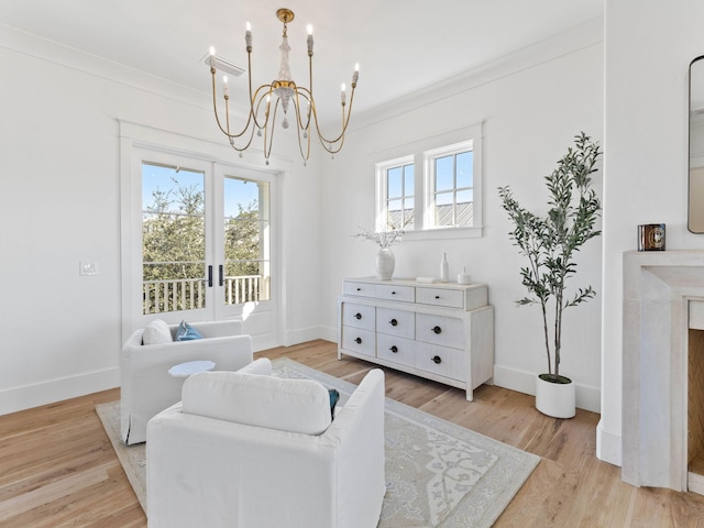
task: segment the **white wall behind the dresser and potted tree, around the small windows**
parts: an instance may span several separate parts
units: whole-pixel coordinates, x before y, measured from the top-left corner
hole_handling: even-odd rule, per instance
[[[547,370],[540,312],[515,305],[524,295],[522,261],[507,235],[512,227],[496,189],[510,185],[525,206],[544,212],[542,177],[573,136],[585,131],[602,140],[602,21],[595,21],[374,116],[358,117],[344,151],[326,162],[322,179],[322,320],[330,339],[342,278],[374,274],[377,248],[351,238],[359,227],[374,226],[374,162],[387,152],[398,154],[405,144],[483,122],[483,237],[407,238],[393,249],[395,276],[438,276],[442,252],[448,252],[450,276],[466,266],[474,280],[488,285],[495,308],[496,384],[535,391],[535,374]],[[601,173],[595,179],[601,193]],[[578,406],[593,410],[600,408],[601,258],[600,239],[580,254],[579,280],[592,284],[600,296],[568,311],[561,371],[578,384]]]

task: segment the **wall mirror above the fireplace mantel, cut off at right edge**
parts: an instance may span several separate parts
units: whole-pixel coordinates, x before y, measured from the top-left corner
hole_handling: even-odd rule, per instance
[[[690,64],[690,194],[688,227],[704,233],[704,55]]]

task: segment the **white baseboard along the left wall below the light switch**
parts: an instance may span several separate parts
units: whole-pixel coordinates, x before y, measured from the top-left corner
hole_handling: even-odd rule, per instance
[[[105,371],[6,388],[0,391],[0,416],[119,386],[120,369],[116,366]]]

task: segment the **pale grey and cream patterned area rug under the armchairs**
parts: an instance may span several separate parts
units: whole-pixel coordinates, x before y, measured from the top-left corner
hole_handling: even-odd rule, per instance
[[[355,385],[288,359],[275,375],[318,380],[340,392]],[[471,404],[469,404],[471,405]],[[145,444],[120,439],[120,403],[96,408],[146,512]],[[540,458],[386,398],[386,496],[378,528],[485,528],[494,524]]]

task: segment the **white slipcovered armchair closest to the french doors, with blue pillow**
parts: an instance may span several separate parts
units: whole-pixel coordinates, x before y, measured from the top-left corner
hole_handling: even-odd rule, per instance
[[[146,422],[180,400],[184,380],[168,374],[172,366],[209,360],[216,370],[237,371],[252,362],[252,338],[242,336],[242,322],[194,322],[191,327],[204,339],[142,344],[144,329],[140,329],[122,346],[120,432],[125,444],[144,442]],[[177,328],[178,324],[169,326],[172,339]]]

